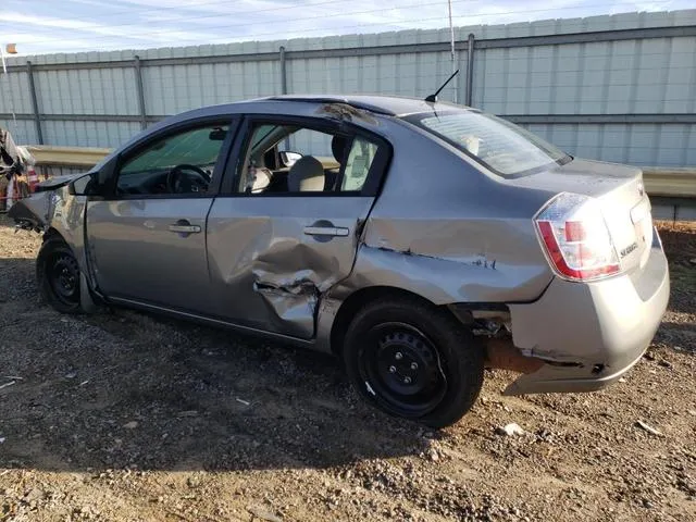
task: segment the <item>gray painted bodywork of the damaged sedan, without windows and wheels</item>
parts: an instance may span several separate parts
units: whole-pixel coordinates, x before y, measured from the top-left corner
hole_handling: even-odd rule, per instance
[[[633,211],[649,204],[638,187],[641,172],[574,160],[505,179],[390,115],[448,108],[364,96],[204,108],[153,125],[95,169],[108,176],[119,154],[189,121],[304,116],[362,127],[391,144],[388,175],[376,198],[223,194],[95,199],[85,206],[85,197],[70,196],[63,186],[22,200],[11,215],[61,234],[94,291],[115,303],[332,351],[346,300],[365,289],[397,288],[455,307],[460,319],[469,312],[511,325],[520,352],[545,363],[507,393],[592,390],[616,381],[639,359],[669,298],[657,235],[632,223]],[[223,169],[234,173],[219,160],[215,172]],[[580,284],[551,271],[533,220],[566,190],[597,198],[618,249],[635,241],[620,274]],[[182,220],[198,233],[173,231]],[[308,227],[348,233],[316,236]]]

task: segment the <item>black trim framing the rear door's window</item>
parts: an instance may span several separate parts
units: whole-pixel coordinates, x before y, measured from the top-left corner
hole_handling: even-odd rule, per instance
[[[349,145],[352,147],[352,141],[356,136],[362,136],[377,145],[377,153],[375,154],[368,177],[361,190],[331,190],[331,191],[307,191],[307,192],[271,192],[271,194],[246,194],[235,190],[235,187],[239,184],[239,175],[237,165],[239,163],[240,154],[246,154],[249,147],[249,141],[252,137],[253,128],[263,124],[274,125],[297,125],[310,130],[323,132],[326,134],[343,134],[349,139]],[[229,161],[225,166],[225,173],[223,176],[223,184],[219,196],[225,198],[318,198],[318,197],[376,197],[382,188],[383,182],[387,176],[388,167],[391,162],[393,147],[391,144],[380,136],[378,134],[371,133],[358,125],[349,122],[331,121],[323,117],[307,117],[307,116],[294,116],[287,114],[245,114],[237,130],[235,144],[229,153]],[[350,148],[346,147],[346,151]],[[344,152],[347,154],[348,152]],[[347,158],[347,156],[346,156]],[[340,171],[337,176],[337,183],[343,179],[344,170],[346,165],[346,158],[340,165]]]

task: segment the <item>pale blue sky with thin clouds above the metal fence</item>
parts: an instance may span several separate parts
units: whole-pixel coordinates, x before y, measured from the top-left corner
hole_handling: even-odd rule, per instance
[[[447,0],[0,0],[20,54],[447,27]],[[451,0],[456,26],[672,11],[694,0]]]

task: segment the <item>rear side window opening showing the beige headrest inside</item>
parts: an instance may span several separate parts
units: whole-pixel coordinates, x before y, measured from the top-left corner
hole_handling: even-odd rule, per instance
[[[236,190],[247,195],[359,191],[377,145],[297,124],[258,124],[239,157]]]

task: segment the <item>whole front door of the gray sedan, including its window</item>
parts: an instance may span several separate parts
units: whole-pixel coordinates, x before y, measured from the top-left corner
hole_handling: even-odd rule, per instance
[[[111,196],[87,207],[90,262],[109,298],[204,311],[206,219],[228,134],[227,122],[198,122],[125,152]]]

